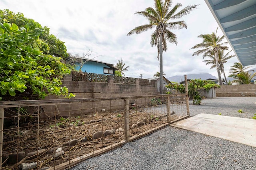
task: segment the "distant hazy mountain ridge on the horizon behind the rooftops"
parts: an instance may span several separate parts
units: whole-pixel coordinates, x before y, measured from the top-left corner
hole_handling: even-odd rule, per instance
[[[170,82],[182,82],[184,81],[184,75],[183,76],[172,76],[172,77],[166,77]],[[198,79],[201,78],[201,80],[206,79],[218,79],[216,76],[213,76],[210,73],[201,73],[201,74],[187,74],[187,79]]]

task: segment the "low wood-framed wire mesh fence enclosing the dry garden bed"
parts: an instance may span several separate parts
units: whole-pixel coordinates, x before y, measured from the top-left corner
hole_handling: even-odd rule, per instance
[[[0,102],[0,169],[70,168],[188,115],[187,94]]]

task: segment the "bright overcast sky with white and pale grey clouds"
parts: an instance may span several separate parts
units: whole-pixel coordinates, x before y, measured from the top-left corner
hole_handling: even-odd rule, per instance
[[[163,53],[166,77],[195,73],[217,76],[216,69],[210,69],[202,56],[192,57],[195,50],[190,50],[201,43],[198,35],[216,31],[217,22],[204,0],[174,0],[173,4],[176,3],[181,3],[183,8],[200,6],[182,18],[188,29],[172,30],[178,37],[178,45],[168,43],[168,51]],[[122,58],[130,66],[125,75],[135,78],[141,73],[143,78],[151,78],[159,71],[157,48],[150,46],[154,29],[126,36],[136,26],[148,23],[134,13],[149,6],[154,7],[153,0],[0,0],[1,10],[21,12],[26,18],[49,27],[51,34],[65,42],[69,53],[82,55],[90,49],[90,58],[98,56],[96,60],[111,64]],[[223,35],[220,29],[218,35]],[[236,57],[224,65],[226,75],[234,62],[238,62]]]

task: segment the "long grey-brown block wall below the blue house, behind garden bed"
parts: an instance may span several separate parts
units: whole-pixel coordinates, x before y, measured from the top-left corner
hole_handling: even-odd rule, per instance
[[[113,82],[113,76],[108,76],[107,83],[101,82],[82,82],[72,81],[72,76],[68,75],[64,77],[62,86],[66,86],[70,93],[76,94],[77,99],[79,98],[117,98],[117,97],[129,97],[129,96],[147,96],[157,95],[157,85],[140,85],[139,79],[136,79],[136,84],[118,84]],[[49,95],[45,99],[58,99],[56,96]],[[102,108],[107,110],[112,109],[123,109],[122,103],[124,101],[118,100],[106,101],[94,101],[86,102],[86,104],[72,103],[71,107],[65,104],[57,104],[56,106],[42,106],[44,113],[41,118],[54,117],[54,114],[61,116],[68,115],[80,115],[82,113],[93,113],[96,110],[101,111]],[[130,103],[134,101],[131,100]],[[138,101],[139,102],[139,101]],[[144,101],[148,102],[148,101]],[[121,106],[120,106],[121,104]],[[145,103],[143,103],[145,104]],[[111,106],[110,106],[111,105]],[[141,104],[142,105],[142,104]],[[71,110],[71,111],[70,111]]]

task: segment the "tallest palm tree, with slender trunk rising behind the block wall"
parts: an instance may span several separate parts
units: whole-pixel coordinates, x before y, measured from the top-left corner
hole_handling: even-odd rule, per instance
[[[155,9],[152,7],[146,8],[146,10],[141,12],[135,12],[135,14],[139,14],[144,16],[149,23],[145,25],[138,26],[132,31],[130,31],[127,35],[132,35],[134,33],[139,34],[144,31],[148,31],[156,26],[156,30],[151,34],[150,44],[151,46],[157,46],[160,67],[160,84],[163,84],[163,51],[167,51],[166,40],[170,43],[177,44],[176,35],[171,32],[169,29],[182,29],[187,28],[185,21],[175,21],[168,22],[169,20],[180,19],[183,16],[189,14],[197,5],[186,6],[182,10],[176,13],[177,9],[182,5],[177,3],[172,9],[172,0],[154,0]],[[160,94],[163,94],[163,86],[160,86]]]

